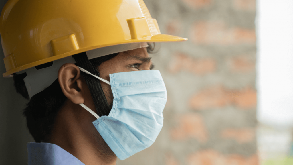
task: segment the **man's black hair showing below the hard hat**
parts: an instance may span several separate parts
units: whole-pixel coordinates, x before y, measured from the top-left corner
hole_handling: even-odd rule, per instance
[[[148,53],[153,53],[155,44],[148,43],[148,45]],[[118,55],[118,53],[105,55],[91,59],[90,62],[98,67],[103,62],[114,58],[116,55]],[[26,99],[29,99],[28,91],[23,81],[25,77],[26,73],[19,75],[14,73],[14,86],[16,92],[20,93]],[[26,118],[28,130],[35,142],[43,142],[44,139],[50,135],[57,112],[64,105],[66,100],[67,97],[63,94],[58,79],[49,87],[31,97],[26,108],[23,110],[23,115]]]

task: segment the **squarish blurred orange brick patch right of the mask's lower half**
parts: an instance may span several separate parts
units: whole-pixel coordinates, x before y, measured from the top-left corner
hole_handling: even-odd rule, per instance
[[[194,138],[202,143],[207,142],[207,130],[201,115],[195,113],[179,115],[177,122],[178,127],[170,132],[173,140]]]

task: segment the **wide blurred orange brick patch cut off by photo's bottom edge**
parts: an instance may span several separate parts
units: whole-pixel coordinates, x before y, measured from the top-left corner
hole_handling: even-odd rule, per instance
[[[188,165],[258,165],[258,156],[223,155],[210,149],[189,155],[187,162]]]

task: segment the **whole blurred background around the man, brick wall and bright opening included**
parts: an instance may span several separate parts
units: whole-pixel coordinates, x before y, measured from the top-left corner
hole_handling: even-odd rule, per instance
[[[189,40],[156,45],[164,126],[151,147],[117,165],[293,164],[293,1],[145,3],[161,33]],[[0,76],[0,86],[0,164],[27,164],[27,100],[12,78]]]

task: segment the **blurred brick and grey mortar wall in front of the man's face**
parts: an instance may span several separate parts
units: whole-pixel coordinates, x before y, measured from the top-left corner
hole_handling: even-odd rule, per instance
[[[145,0],[168,91],[156,142],[118,165],[257,165],[254,0]]]

